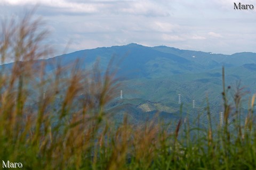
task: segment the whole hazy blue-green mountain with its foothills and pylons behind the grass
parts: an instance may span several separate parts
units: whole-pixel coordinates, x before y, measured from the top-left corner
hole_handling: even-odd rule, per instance
[[[230,95],[234,94],[238,84],[247,93],[256,91],[256,53],[246,52],[224,55],[129,44],[80,50],[49,58],[45,60],[46,72],[54,71],[54,63],[68,66],[76,60],[79,60],[77,66],[81,69],[90,69],[99,61],[100,68],[106,70],[111,58],[114,58],[111,69],[117,71],[116,77],[122,85],[107,108],[118,113],[131,111],[134,120],[140,117],[137,114],[156,112],[161,112],[163,117],[177,118],[180,109],[178,94],[184,103],[184,113],[195,112],[195,109],[197,113],[204,113],[205,99],[208,98],[212,111],[218,115],[222,109],[222,66],[226,70],[226,85],[231,86]],[[40,62],[42,60],[37,64]],[[12,63],[5,64],[5,67],[10,69]],[[119,98],[120,90],[123,90],[124,99]],[[243,107],[247,107],[247,103]]]

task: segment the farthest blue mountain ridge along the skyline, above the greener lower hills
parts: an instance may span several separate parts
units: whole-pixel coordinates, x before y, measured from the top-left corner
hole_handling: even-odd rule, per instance
[[[126,78],[155,78],[173,74],[205,72],[220,69],[223,65],[233,67],[256,63],[256,53],[223,55],[166,46],[146,47],[134,43],[79,50],[49,58],[47,63],[57,60],[65,66],[75,60],[80,60],[80,66],[85,68],[99,58],[102,68],[106,68],[113,56],[118,60],[122,58],[122,62],[116,66],[119,70],[118,75]],[[51,70],[50,67],[48,69]]]

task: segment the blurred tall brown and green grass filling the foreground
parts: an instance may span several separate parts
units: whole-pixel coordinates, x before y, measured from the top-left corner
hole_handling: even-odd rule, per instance
[[[256,169],[255,95],[241,120],[242,90],[231,105],[224,69],[222,125],[212,123],[209,107],[206,128],[186,118],[134,125],[127,116],[116,125],[105,111],[118,86],[111,64],[102,74],[97,64],[84,71],[52,63],[55,70],[46,74],[36,60],[51,52],[42,46],[47,34],[31,16],[2,24],[2,63],[7,56],[15,62],[1,67],[0,160],[23,169]]]

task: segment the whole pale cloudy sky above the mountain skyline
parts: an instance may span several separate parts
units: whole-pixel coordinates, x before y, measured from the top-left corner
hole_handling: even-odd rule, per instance
[[[256,52],[254,10],[234,0],[0,0],[0,16],[20,16],[38,5],[57,54],[137,43],[233,54]]]

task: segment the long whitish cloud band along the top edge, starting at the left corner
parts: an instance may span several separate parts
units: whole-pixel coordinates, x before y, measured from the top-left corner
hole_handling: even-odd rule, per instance
[[[131,14],[145,16],[167,16],[168,8],[155,1],[65,1],[65,0],[2,0],[0,4],[7,5],[36,5],[50,7],[48,10],[54,10],[61,14]],[[55,8],[55,9],[52,9]]]

